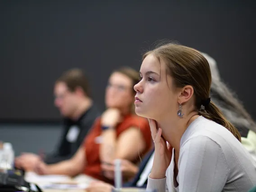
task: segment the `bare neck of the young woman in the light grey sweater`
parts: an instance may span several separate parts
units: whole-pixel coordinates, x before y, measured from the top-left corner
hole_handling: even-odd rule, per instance
[[[158,127],[162,129],[162,136],[165,140],[174,147],[174,150],[179,153],[180,140],[187,127],[199,117],[197,112],[191,112],[190,114],[183,116],[183,118],[165,118],[157,121]]]

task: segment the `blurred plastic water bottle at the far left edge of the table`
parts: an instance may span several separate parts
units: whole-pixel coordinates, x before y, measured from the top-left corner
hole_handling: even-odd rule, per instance
[[[3,145],[3,156],[5,160],[5,169],[13,169],[14,165],[14,150],[11,143],[4,143]]]

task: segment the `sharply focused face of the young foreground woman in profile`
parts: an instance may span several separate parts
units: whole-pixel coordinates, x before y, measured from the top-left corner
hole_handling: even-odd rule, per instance
[[[173,79],[166,74],[164,60],[148,55],[140,69],[141,81],[134,86],[137,92],[135,112],[137,115],[159,120],[166,114],[177,114],[178,94]]]

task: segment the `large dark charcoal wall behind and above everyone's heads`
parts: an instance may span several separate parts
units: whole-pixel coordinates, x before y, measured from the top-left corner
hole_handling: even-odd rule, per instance
[[[82,0],[0,2],[0,119],[58,120],[52,88],[67,69],[85,69],[104,109],[105,84],[121,65],[170,39],[213,56],[222,77],[256,118],[253,0]]]

